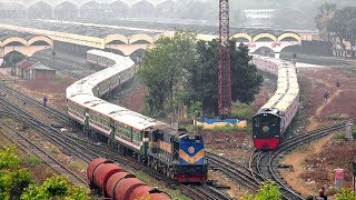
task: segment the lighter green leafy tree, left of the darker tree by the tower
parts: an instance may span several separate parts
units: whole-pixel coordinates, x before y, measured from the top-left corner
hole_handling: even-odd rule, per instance
[[[196,33],[176,31],[172,38],[159,38],[156,48],[146,52],[138,77],[148,89],[145,100],[151,116],[162,117],[178,106],[185,88],[184,69],[197,57],[195,42]]]

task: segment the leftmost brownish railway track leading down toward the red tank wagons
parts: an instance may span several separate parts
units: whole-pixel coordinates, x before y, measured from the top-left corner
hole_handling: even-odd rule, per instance
[[[13,116],[9,112],[0,112],[2,118],[16,119],[17,116]],[[21,120],[21,119],[19,119]],[[58,159],[52,157],[50,153],[46,152],[42,147],[37,146],[33,141],[27,139],[19,131],[13,130],[10,126],[6,124],[3,121],[0,121],[2,136],[4,136],[9,141],[18,143],[23,151],[33,153],[37,157],[41,158],[49,167],[55,169],[58,173],[66,174],[72,183],[87,184],[87,181],[80,178],[77,173],[71,171],[69,168],[63,166]],[[9,136],[10,134],[10,136]]]

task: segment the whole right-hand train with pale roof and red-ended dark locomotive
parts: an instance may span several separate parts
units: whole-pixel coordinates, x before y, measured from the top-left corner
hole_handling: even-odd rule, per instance
[[[275,150],[298,112],[299,83],[294,64],[280,59],[254,56],[257,69],[277,76],[275,94],[253,117],[253,140],[256,149]]]

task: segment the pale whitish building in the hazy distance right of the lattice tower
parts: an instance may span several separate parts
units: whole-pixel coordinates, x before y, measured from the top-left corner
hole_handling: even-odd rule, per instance
[[[245,27],[270,28],[273,24],[271,19],[274,16],[275,10],[270,9],[243,10]]]

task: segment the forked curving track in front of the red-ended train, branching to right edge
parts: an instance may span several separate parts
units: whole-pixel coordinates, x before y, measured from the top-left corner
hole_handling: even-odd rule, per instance
[[[343,121],[336,124],[323,127],[320,129],[306,132],[304,134],[299,134],[293,138],[289,138],[288,140],[284,141],[278,150],[271,152],[263,152],[263,151],[255,151],[249,161],[249,167],[251,170],[256,170],[259,174],[261,174],[263,180],[273,180],[280,187],[280,192],[283,193],[285,199],[304,199],[298,192],[294,191],[287,182],[285,182],[280,177],[278,172],[279,168],[279,159],[283,158],[283,156],[305,143],[308,143],[313,140],[323,138],[327,134],[333,133],[336,130],[340,130],[345,128],[345,124],[348,121]],[[356,119],[352,120],[352,122],[356,122]]]

